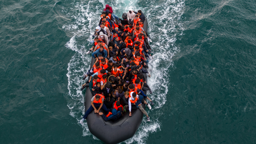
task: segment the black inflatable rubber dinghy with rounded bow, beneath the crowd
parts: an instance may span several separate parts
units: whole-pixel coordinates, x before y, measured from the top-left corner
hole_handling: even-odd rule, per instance
[[[147,32],[148,30],[148,21],[147,18],[144,21],[143,29]],[[93,66],[95,59],[92,57],[91,67]],[[143,69],[146,69],[143,67]],[[147,80],[146,74],[144,74],[145,80]],[[146,94],[146,92],[144,92]],[[84,96],[84,106],[85,112],[91,106],[91,99],[93,95],[90,89],[86,88],[86,93]],[[145,100],[145,98],[144,98]],[[142,107],[145,108],[145,104],[142,104]],[[106,115],[103,109],[101,112]],[[132,116],[129,116],[129,111],[125,112],[124,115],[116,121],[104,121],[102,116],[98,113],[92,111],[86,118],[86,122],[90,132],[96,136],[98,139],[102,140],[106,144],[117,144],[124,140],[130,139],[133,137],[135,132],[138,130],[143,118],[143,113],[141,110],[132,109]]]

